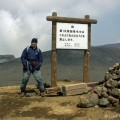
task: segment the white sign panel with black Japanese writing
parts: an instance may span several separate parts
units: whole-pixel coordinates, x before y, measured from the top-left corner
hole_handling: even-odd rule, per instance
[[[88,25],[57,23],[57,49],[88,49]]]

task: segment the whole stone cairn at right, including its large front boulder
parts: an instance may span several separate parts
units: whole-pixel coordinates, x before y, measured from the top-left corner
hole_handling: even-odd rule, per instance
[[[108,68],[104,80],[79,98],[78,107],[118,106],[120,104],[120,63]]]

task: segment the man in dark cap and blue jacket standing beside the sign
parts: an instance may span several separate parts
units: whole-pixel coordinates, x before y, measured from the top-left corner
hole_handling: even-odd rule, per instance
[[[31,74],[33,74],[38,83],[40,95],[44,96],[44,83],[40,73],[43,57],[41,50],[37,47],[37,43],[37,38],[33,38],[31,41],[31,46],[25,48],[21,55],[21,61],[23,64],[23,80],[20,87],[21,96],[26,94],[26,85]]]

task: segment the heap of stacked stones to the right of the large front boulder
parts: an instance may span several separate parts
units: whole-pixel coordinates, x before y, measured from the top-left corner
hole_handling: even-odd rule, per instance
[[[104,81],[99,83],[100,85],[94,88],[94,91],[98,93],[97,89],[101,89],[98,96],[100,98],[100,106],[113,105],[117,106],[120,103],[120,63],[116,63],[113,67],[108,68],[105,74]]]

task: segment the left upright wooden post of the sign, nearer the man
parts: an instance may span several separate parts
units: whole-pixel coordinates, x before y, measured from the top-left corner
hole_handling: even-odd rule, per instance
[[[56,12],[52,16],[57,16]],[[56,22],[52,21],[52,64],[51,64],[51,86],[57,86],[57,52],[56,52]]]

